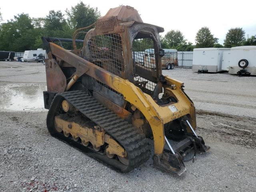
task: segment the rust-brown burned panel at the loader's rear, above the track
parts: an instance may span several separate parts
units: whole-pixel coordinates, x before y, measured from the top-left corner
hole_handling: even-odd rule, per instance
[[[45,62],[46,84],[49,92],[64,92],[66,88],[66,76],[54,59]]]

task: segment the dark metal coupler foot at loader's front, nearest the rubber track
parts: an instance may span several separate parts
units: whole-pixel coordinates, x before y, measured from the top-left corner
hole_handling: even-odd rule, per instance
[[[170,154],[163,152],[162,157],[160,155],[154,155],[154,166],[164,172],[169,172],[180,176],[186,171],[185,165],[179,153]]]

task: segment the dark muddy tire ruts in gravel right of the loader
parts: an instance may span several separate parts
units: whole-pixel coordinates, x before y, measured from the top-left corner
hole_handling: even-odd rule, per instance
[[[256,118],[230,116],[199,110],[197,131],[204,137],[214,137],[247,148],[256,148]]]

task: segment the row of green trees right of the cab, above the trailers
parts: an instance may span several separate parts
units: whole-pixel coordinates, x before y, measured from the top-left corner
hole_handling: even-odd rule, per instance
[[[231,48],[243,45],[256,45],[256,36],[248,36],[246,39],[245,31],[242,28],[229,29],[224,39],[224,45],[219,44],[218,40],[208,27],[202,27],[198,30],[195,45],[188,42],[179,30],[171,30],[165,36],[161,36],[162,48],[177,49],[178,51],[192,51],[194,48]]]

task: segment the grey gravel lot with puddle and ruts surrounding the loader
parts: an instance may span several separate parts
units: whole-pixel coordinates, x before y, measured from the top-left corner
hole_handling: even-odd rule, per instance
[[[51,137],[44,66],[0,62],[0,191],[255,191],[256,77],[163,73],[185,83],[197,133],[211,146],[181,177],[154,168],[152,158],[122,174]]]

